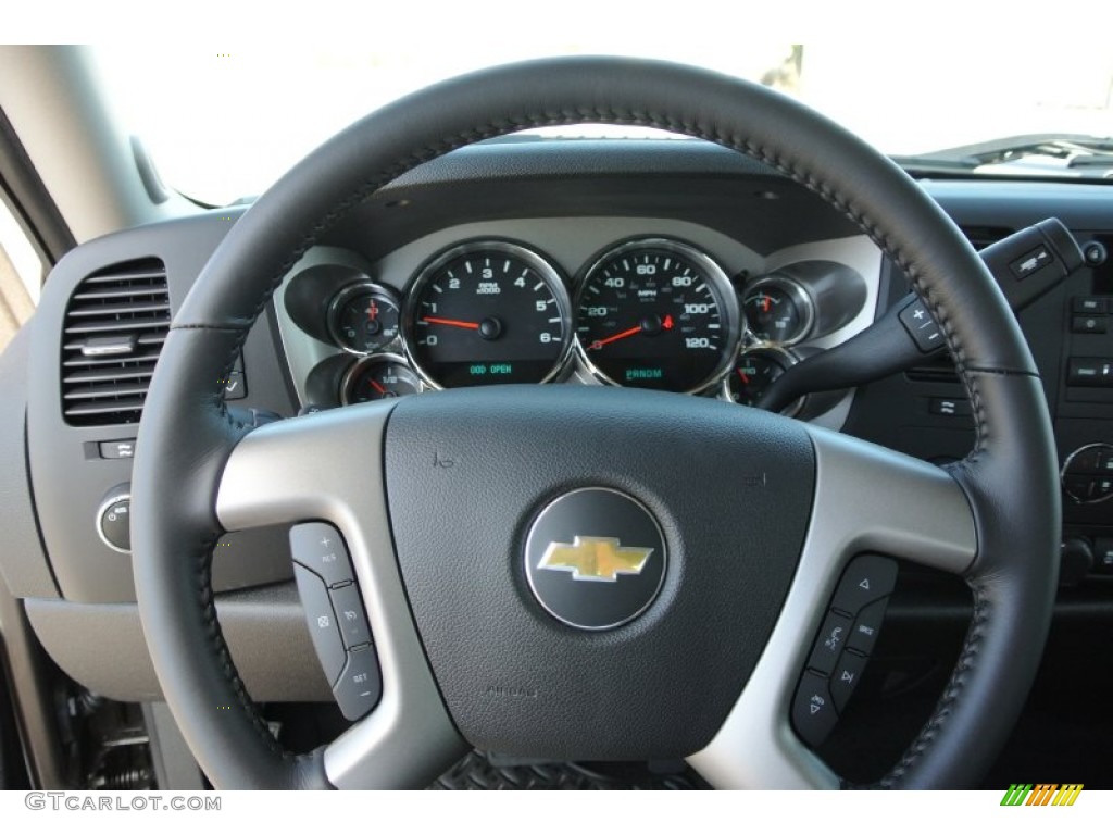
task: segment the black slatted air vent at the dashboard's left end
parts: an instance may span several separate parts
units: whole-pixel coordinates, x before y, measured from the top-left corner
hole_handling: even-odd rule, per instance
[[[62,414],[71,426],[136,423],[170,328],[157,258],[98,271],[73,291],[62,327]]]

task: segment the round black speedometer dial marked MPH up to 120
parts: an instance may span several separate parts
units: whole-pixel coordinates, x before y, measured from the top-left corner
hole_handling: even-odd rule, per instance
[[[611,385],[700,392],[726,373],[740,340],[726,274],[670,238],[602,255],[584,274],[575,315],[580,357]]]

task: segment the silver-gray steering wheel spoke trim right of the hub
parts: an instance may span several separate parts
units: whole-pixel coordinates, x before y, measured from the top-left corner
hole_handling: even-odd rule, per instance
[[[809,426],[816,451],[811,523],[769,644],[711,743],[688,757],[718,788],[827,788],[839,778],[797,738],[789,706],[811,636],[847,561],[880,551],[962,573],[977,553],[974,514],[946,472]]]

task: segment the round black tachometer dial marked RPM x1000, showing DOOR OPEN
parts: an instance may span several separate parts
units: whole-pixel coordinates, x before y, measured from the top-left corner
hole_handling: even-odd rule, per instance
[[[505,242],[465,244],[414,279],[406,355],[439,389],[542,383],[568,355],[569,308],[560,275],[541,256]]]

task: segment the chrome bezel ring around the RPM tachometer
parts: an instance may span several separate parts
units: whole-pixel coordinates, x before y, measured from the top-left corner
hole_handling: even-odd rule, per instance
[[[406,284],[402,306],[402,322],[398,328],[402,340],[402,352],[405,354],[406,364],[417,373],[417,376],[427,389],[433,391],[442,391],[444,389],[444,386],[442,386],[440,382],[422,366],[414,351],[416,337],[413,333],[413,328],[418,298],[425,284],[429,283],[430,278],[445,264],[462,255],[473,255],[482,252],[496,252],[521,258],[526,265],[538,273],[542,281],[545,282],[550,292],[553,294],[553,297],[556,299],[556,306],[560,308],[563,342],[561,344],[560,353],[553,362],[552,369],[543,379],[538,380],[534,384],[540,385],[542,383],[549,383],[556,380],[567,369],[569,357],[572,355],[573,307],[567,283],[560,269],[558,269],[552,261],[544,255],[522,244],[498,238],[469,240],[444,249],[422,266],[413,278],[411,278]]]

